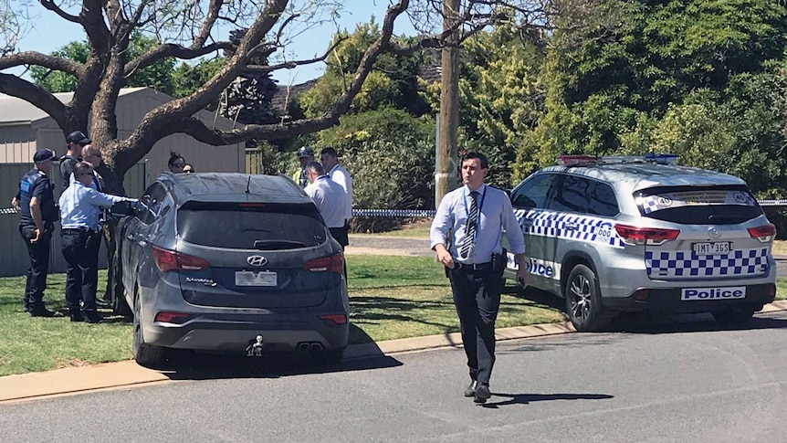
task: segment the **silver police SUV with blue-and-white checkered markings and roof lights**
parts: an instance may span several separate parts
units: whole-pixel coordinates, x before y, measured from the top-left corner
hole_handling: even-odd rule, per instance
[[[744,322],[773,301],[776,228],[748,186],[675,160],[563,155],[511,192],[530,285],[563,297],[578,331],[626,311]]]

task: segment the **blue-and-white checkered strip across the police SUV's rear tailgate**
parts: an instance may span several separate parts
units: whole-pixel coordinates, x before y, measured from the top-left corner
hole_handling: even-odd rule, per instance
[[[768,272],[768,248],[698,256],[692,251],[645,251],[647,275],[653,279],[755,277]]]

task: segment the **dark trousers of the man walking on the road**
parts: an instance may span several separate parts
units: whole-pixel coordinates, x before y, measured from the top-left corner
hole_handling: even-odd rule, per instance
[[[489,269],[449,269],[470,378],[488,384],[495,365],[495,321],[503,280]]]

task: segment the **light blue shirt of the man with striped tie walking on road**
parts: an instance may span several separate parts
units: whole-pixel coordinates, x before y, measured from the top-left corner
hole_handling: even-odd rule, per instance
[[[440,202],[440,206],[437,207],[437,213],[429,233],[430,248],[434,249],[438,244],[446,246],[447,239],[451,243],[449,251],[454,261],[463,264],[487,263],[492,259],[493,253],[502,252],[500,238],[505,231],[511,248],[509,252],[524,254],[525,240],[522,237],[522,229],[519,227],[517,217],[514,216],[509,195],[488,185],[481,185],[476,192],[478,193],[476,202],[479,219],[476,227],[475,246],[471,249],[470,257],[461,258],[458,253],[458,248],[467,237],[465,229],[471,198],[467,185],[446,194]],[[448,238],[449,233],[450,238]]]

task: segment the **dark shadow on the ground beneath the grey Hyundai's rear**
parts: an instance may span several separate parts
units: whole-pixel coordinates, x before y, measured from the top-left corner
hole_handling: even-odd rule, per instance
[[[365,334],[350,325],[351,335]],[[367,336],[371,342],[372,339]],[[372,344],[373,345],[373,344]],[[264,353],[261,357],[173,351],[166,364],[155,369],[171,380],[217,380],[228,378],[279,378],[302,374],[327,374],[364,371],[401,366],[393,357],[383,355],[346,358],[341,364],[319,365],[309,352]]]

